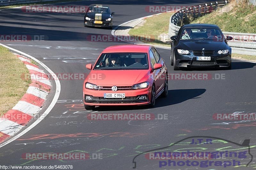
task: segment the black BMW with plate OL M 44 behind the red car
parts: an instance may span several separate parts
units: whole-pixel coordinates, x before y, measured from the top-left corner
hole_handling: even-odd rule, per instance
[[[181,67],[225,67],[231,69],[230,36],[224,37],[213,24],[188,24],[180,27],[171,40],[171,65]]]

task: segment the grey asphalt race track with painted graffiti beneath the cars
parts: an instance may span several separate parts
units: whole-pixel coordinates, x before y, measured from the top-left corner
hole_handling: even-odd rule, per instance
[[[114,27],[126,21],[151,15],[148,5],[200,4],[208,1],[80,1],[61,5],[106,4],[116,13]],[[2,35],[44,35],[47,41],[1,42],[25,52],[47,65],[54,73],[89,73],[85,64],[94,63],[101,51],[125,42],[90,42],[91,34],[109,34],[111,30],[83,26],[83,13],[25,13],[20,9],[0,11]],[[83,105],[83,80],[60,80],[59,101],[52,111],[26,134],[0,148],[0,165],[54,166],[72,165],[73,169],[132,169],[133,158],[153,149],[193,136],[223,138],[238,144],[250,139],[250,152],[256,149],[255,120],[214,120],[215,113],[256,114],[256,63],[232,60],[232,70],[181,70],[173,71],[170,50],[158,48],[169,73],[208,73],[209,80],[169,80],[167,98],[158,98],[155,108],[97,107],[86,111]],[[218,76],[222,74],[222,79]],[[223,77],[224,76],[224,77]],[[55,84],[43,108],[51,102]],[[90,113],[149,113],[167,114],[167,120],[88,120]],[[32,121],[33,122],[33,121]],[[31,123],[32,123],[31,122]],[[29,124],[31,124],[29,123]],[[28,126],[29,126],[28,124]],[[198,138],[198,137],[197,137]],[[200,137],[199,137],[200,138]],[[207,138],[207,137],[201,137]],[[209,138],[209,137],[208,137]],[[195,137],[196,140],[196,137]],[[216,140],[212,144],[190,144],[191,139],[171,146],[164,152],[179,151],[248,151],[248,147]],[[172,149],[174,148],[174,149]],[[26,160],[24,153],[99,153],[102,159],[88,160]],[[250,162],[251,156],[241,159]],[[163,166],[158,160],[135,158],[136,169],[205,169],[199,166]],[[256,167],[253,158],[248,169]],[[244,169],[229,166],[227,169]],[[225,168],[225,169],[226,169]],[[208,169],[224,169],[212,166]]]

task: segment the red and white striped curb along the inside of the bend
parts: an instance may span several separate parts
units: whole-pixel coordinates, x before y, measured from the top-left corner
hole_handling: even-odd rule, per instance
[[[7,113],[0,117],[0,142],[13,136],[23,128],[41,109],[51,90],[51,82],[47,74],[27,57],[17,55],[26,65],[31,77],[27,92],[20,101]],[[21,78],[24,75],[21,75]]]

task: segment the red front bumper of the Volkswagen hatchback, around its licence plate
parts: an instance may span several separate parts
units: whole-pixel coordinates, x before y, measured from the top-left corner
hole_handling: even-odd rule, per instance
[[[125,93],[125,98],[104,98],[104,93]],[[91,100],[86,100],[86,96],[90,96]],[[147,96],[147,99],[140,99],[140,96]],[[90,90],[84,89],[84,105],[90,106],[127,106],[127,105],[147,105],[150,104],[151,92],[149,88],[141,90]]]

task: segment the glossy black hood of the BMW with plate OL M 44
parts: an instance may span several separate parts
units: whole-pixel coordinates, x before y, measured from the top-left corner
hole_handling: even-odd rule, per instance
[[[185,50],[223,50],[226,48],[226,43],[224,41],[191,41],[191,40],[181,40],[179,41],[179,46],[177,48]]]

